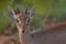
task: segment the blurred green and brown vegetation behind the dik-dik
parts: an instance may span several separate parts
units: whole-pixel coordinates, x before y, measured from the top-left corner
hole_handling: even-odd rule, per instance
[[[66,21],[66,0],[0,0],[0,34],[18,32],[14,20],[11,18],[8,6],[15,9],[36,6],[35,15],[31,20],[31,31],[45,30]]]

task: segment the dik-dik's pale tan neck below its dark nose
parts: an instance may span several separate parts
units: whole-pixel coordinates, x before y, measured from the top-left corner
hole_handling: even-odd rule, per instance
[[[30,43],[30,30],[26,28],[26,31],[22,33],[21,30],[19,30],[19,36],[20,36],[20,43],[21,44],[29,44]]]

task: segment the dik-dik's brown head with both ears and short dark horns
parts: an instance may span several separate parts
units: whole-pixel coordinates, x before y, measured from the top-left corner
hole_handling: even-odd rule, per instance
[[[30,10],[26,8],[25,11],[23,11],[21,9],[13,10],[11,7],[9,7],[9,12],[16,21],[18,30],[24,33],[28,29],[30,19],[34,15],[35,11],[34,8]]]

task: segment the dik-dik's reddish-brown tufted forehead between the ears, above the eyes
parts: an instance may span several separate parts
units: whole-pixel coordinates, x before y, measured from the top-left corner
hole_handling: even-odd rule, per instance
[[[29,14],[25,13],[23,10],[16,9],[16,10],[14,10],[14,12],[15,12],[15,18],[16,19],[24,19],[24,20],[26,20],[29,18]]]

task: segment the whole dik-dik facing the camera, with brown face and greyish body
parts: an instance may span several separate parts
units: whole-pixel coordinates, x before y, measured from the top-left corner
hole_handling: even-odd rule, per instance
[[[23,11],[10,7],[9,12],[16,21],[21,44],[66,44],[66,24],[45,31],[30,32],[30,20],[34,15],[34,8]]]

